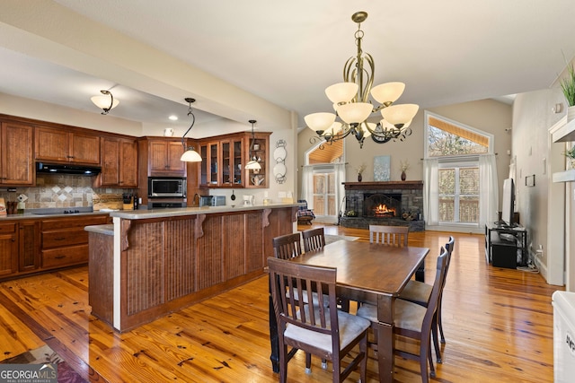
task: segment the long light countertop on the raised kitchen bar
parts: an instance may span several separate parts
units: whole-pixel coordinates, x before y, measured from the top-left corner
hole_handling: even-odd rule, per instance
[[[225,206],[202,206],[202,207],[176,207],[171,209],[130,210],[111,212],[111,217],[119,217],[126,220],[146,220],[149,218],[173,217],[179,215],[198,215],[211,213],[243,212],[250,210],[278,209],[281,207],[299,207],[299,203],[270,204],[270,205],[225,205]]]

